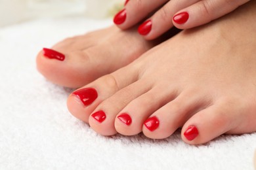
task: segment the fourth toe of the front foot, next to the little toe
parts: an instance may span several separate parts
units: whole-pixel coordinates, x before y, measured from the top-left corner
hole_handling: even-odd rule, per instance
[[[144,122],[143,133],[152,139],[164,139],[169,137],[181,127],[196,110],[202,109],[207,103],[207,99],[194,91],[182,92],[176,99],[156,110],[156,112]]]

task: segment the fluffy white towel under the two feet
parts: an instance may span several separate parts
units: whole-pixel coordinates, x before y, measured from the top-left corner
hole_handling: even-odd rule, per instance
[[[144,135],[103,137],[66,108],[68,88],[37,73],[43,47],[110,25],[85,18],[39,20],[0,29],[0,169],[253,169],[256,133],[201,146]]]

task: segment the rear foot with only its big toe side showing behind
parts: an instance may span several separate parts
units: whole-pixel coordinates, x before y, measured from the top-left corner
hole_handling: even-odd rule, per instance
[[[135,29],[112,26],[59,42],[54,51],[44,48],[37,69],[55,84],[78,88],[131,63],[161,41],[145,41]]]

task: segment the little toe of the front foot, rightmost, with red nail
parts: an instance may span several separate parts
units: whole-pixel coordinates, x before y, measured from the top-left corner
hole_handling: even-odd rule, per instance
[[[182,139],[188,144],[202,144],[238,126],[242,108],[234,103],[214,104],[194,114],[182,127]],[[243,111],[244,112],[244,111]]]

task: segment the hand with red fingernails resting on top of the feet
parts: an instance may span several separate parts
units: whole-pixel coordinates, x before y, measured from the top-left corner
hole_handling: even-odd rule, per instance
[[[139,33],[145,39],[155,39],[168,29],[178,27],[189,29],[207,24],[235,10],[249,0],[127,0],[125,8],[118,12],[114,23],[121,29],[138,24],[148,14],[154,13],[139,26]]]

